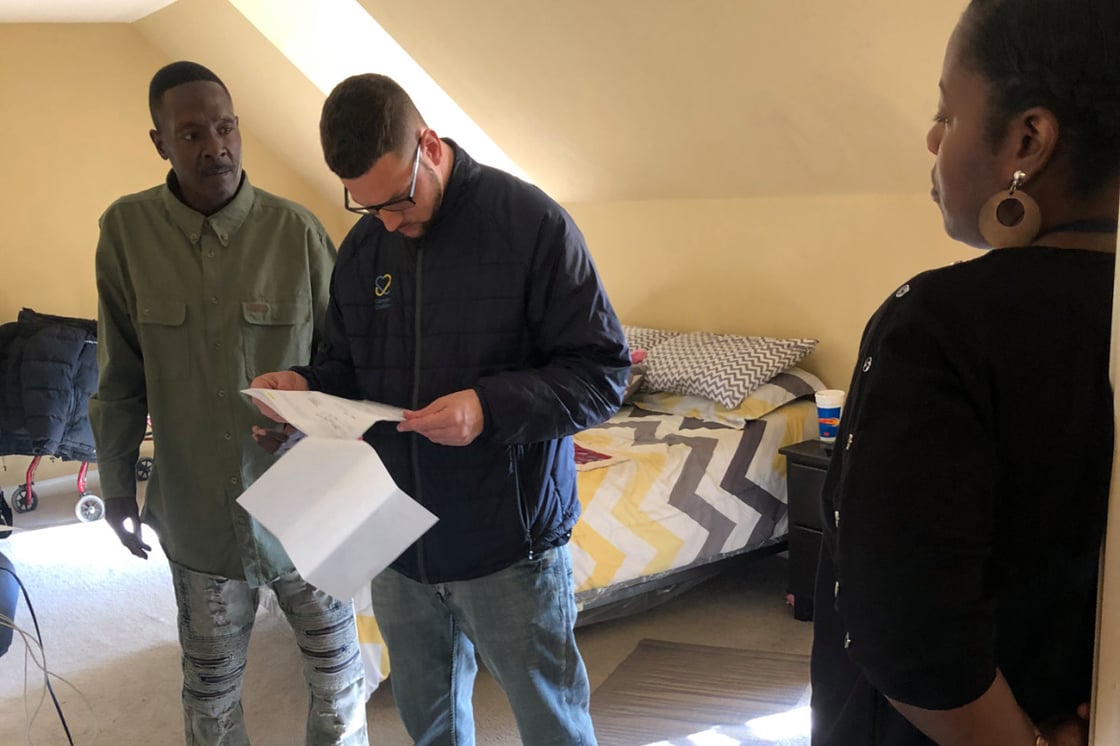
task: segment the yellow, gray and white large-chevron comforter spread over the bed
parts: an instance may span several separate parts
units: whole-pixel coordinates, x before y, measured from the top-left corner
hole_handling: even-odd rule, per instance
[[[801,400],[743,429],[624,407],[577,435],[577,444],[605,456],[578,478],[584,515],[569,545],[579,606],[784,535],[785,457],[777,449],[815,433],[816,408]],[[368,589],[354,605],[372,693],[389,660]]]

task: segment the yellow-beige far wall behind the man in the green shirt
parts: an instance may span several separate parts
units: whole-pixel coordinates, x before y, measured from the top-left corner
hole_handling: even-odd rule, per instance
[[[15,320],[25,306],[96,315],[97,217],[120,195],[167,172],[148,139],[147,96],[152,73],[168,62],[127,25],[0,25],[0,204],[7,218],[0,323]],[[307,205],[340,241],[348,213],[264,147],[252,122],[243,122],[242,137],[253,183]],[[0,486],[19,483],[26,463],[3,458]],[[45,464],[39,476],[72,472],[69,466]]]

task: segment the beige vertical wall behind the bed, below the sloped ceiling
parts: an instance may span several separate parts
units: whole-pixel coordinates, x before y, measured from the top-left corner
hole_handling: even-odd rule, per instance
[[[624,323],[814,337],[804,366],[847,389],[860,334],[913,274],[976,255],[928,196],[568,205]]]

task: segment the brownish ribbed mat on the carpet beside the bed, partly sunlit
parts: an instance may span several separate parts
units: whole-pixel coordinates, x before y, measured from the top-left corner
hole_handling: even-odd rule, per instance
[[[591,717],[601,746],[808,743],[808,690],[805,655],[642,640]]]

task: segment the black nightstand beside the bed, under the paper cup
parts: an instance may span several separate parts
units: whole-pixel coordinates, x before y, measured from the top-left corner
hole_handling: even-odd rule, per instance
[[[793,618],[813,618],[813,586],[821,552],[821,489],[832,446],[805,440],[778,450],[785,456],[790,501],[790,593]]]

